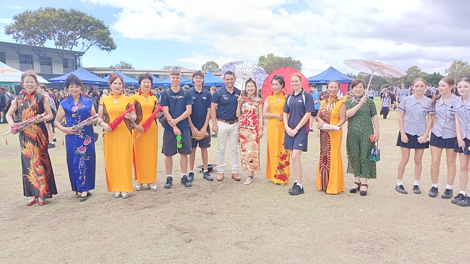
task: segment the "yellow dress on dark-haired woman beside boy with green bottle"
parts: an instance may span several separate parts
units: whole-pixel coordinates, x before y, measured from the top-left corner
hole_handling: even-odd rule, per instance
[[[145,100],[147,97],[148,101]],[[142,125],[152,115],[158,99],[155,95],[138,93],[131,96],[131,103],[135,107],[137,120],[135,124]],[[149,130],[140,133],[139,130],[133,129],[133,163],[134,163],[134,180],[139,184],[153,183],[157,180],[157,158],[158,158],[158,125],[152,122]],[[137,135],[139,137],[137,138]]]

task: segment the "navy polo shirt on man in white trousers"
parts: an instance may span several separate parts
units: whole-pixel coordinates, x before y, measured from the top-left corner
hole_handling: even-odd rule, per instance
[[[242,92],[234,87],[233,93],[227,92],[227,88],[220,87],[212,94],[212,102],[219,104],[217,107],[217,118],[232,121],[236,119],[237,96]],[[310,96],[312,97],[312,96]]]

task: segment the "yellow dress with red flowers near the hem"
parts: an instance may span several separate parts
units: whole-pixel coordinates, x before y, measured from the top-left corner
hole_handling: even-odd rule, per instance
[[[283,114],[286,99],[282,93],[269,95],[270,114]],[[290,153],[284,149],[284,122],[269,118],[267,122],[266,178],[275,183],[288,183],[290,178]]]

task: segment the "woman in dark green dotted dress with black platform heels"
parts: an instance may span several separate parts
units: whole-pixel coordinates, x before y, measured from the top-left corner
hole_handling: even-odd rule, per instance
[[[365,84],[356,79],[351,85],[352,97],[346,100],[348,134],[346,151],[348,155],[347,173],[354,173],[354,185],[350,193],[367,195],[368,179],[376,179],[376,163],[370,161],[370,150],[374,141],[379,140],[379,120],[374,100],[364,96]],[[374,128],[376,132],[374,133]],[[372,139],[369,136],[372,136]],[[362,180],[360,180],[362,178]]]

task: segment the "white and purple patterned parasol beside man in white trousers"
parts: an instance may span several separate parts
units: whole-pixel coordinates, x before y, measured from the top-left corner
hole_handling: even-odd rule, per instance
[[[263,82],[267,77],[266,70],[261,66],[243,61],[228,62],[222,69],[220,69],[220,75],[224,76],[226,71],[233,71],[235,73],[235,87],[243,91],[245,89],[245,82],[248,78],[252,78],[258,89],[263,86]]]

